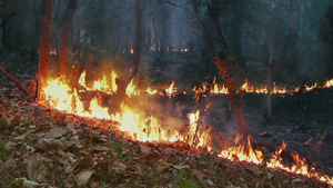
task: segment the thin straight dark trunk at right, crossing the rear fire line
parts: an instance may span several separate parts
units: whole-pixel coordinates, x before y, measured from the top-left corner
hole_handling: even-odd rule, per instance
[[[272,14],[271,14],[271,32],[269,38],[269,60],[268,60],[268,96],[266,96],[266,110],[268,121],[272,120],[272,59],[273,59],[273,34],[274,34],[274,8],[275,0],[272,0]]]

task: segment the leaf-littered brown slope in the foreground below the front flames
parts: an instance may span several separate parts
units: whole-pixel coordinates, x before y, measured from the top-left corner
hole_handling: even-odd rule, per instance
[[[199,154],[181,144],[131,141],[121,133],[104,130],[113,129],[117,122],[49,110],[21,96],[3,78],[0,86],[1,187],[329,187],[264,166]],[[225,110],[221,110],[224,115]],[[259,113],[258,116],[248,115],[246,119],[255,120]],[[253,135],[271,131],[278,142],[284,137],[294,139],[295,131],[285,132],[287,121],[279,127],[261,125],[261,120],[249,123]]]

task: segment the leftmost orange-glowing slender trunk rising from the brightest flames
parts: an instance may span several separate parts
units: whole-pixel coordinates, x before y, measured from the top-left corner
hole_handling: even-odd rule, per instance
[[[44,0],[44,17],[42,23],[42,32],[39,49],[39,69],[38,69],[38,99],[44,100],[46,95],[43,88],[48,81],[48,65],[52,26],[52,7],[53,0]]]

